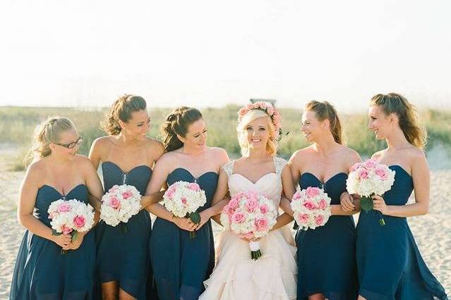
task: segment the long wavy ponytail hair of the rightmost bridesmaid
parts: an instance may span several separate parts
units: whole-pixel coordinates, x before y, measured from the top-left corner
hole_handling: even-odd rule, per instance
[[[419,122],[416,107],[409,103],[404,96],[395,93],[377,94],[371,98],[371,105],[380,106],[385,115],[395,113],[399,120],[399,127],[404,132],[407,141],[419,149],[424,149],[428,132]]]

